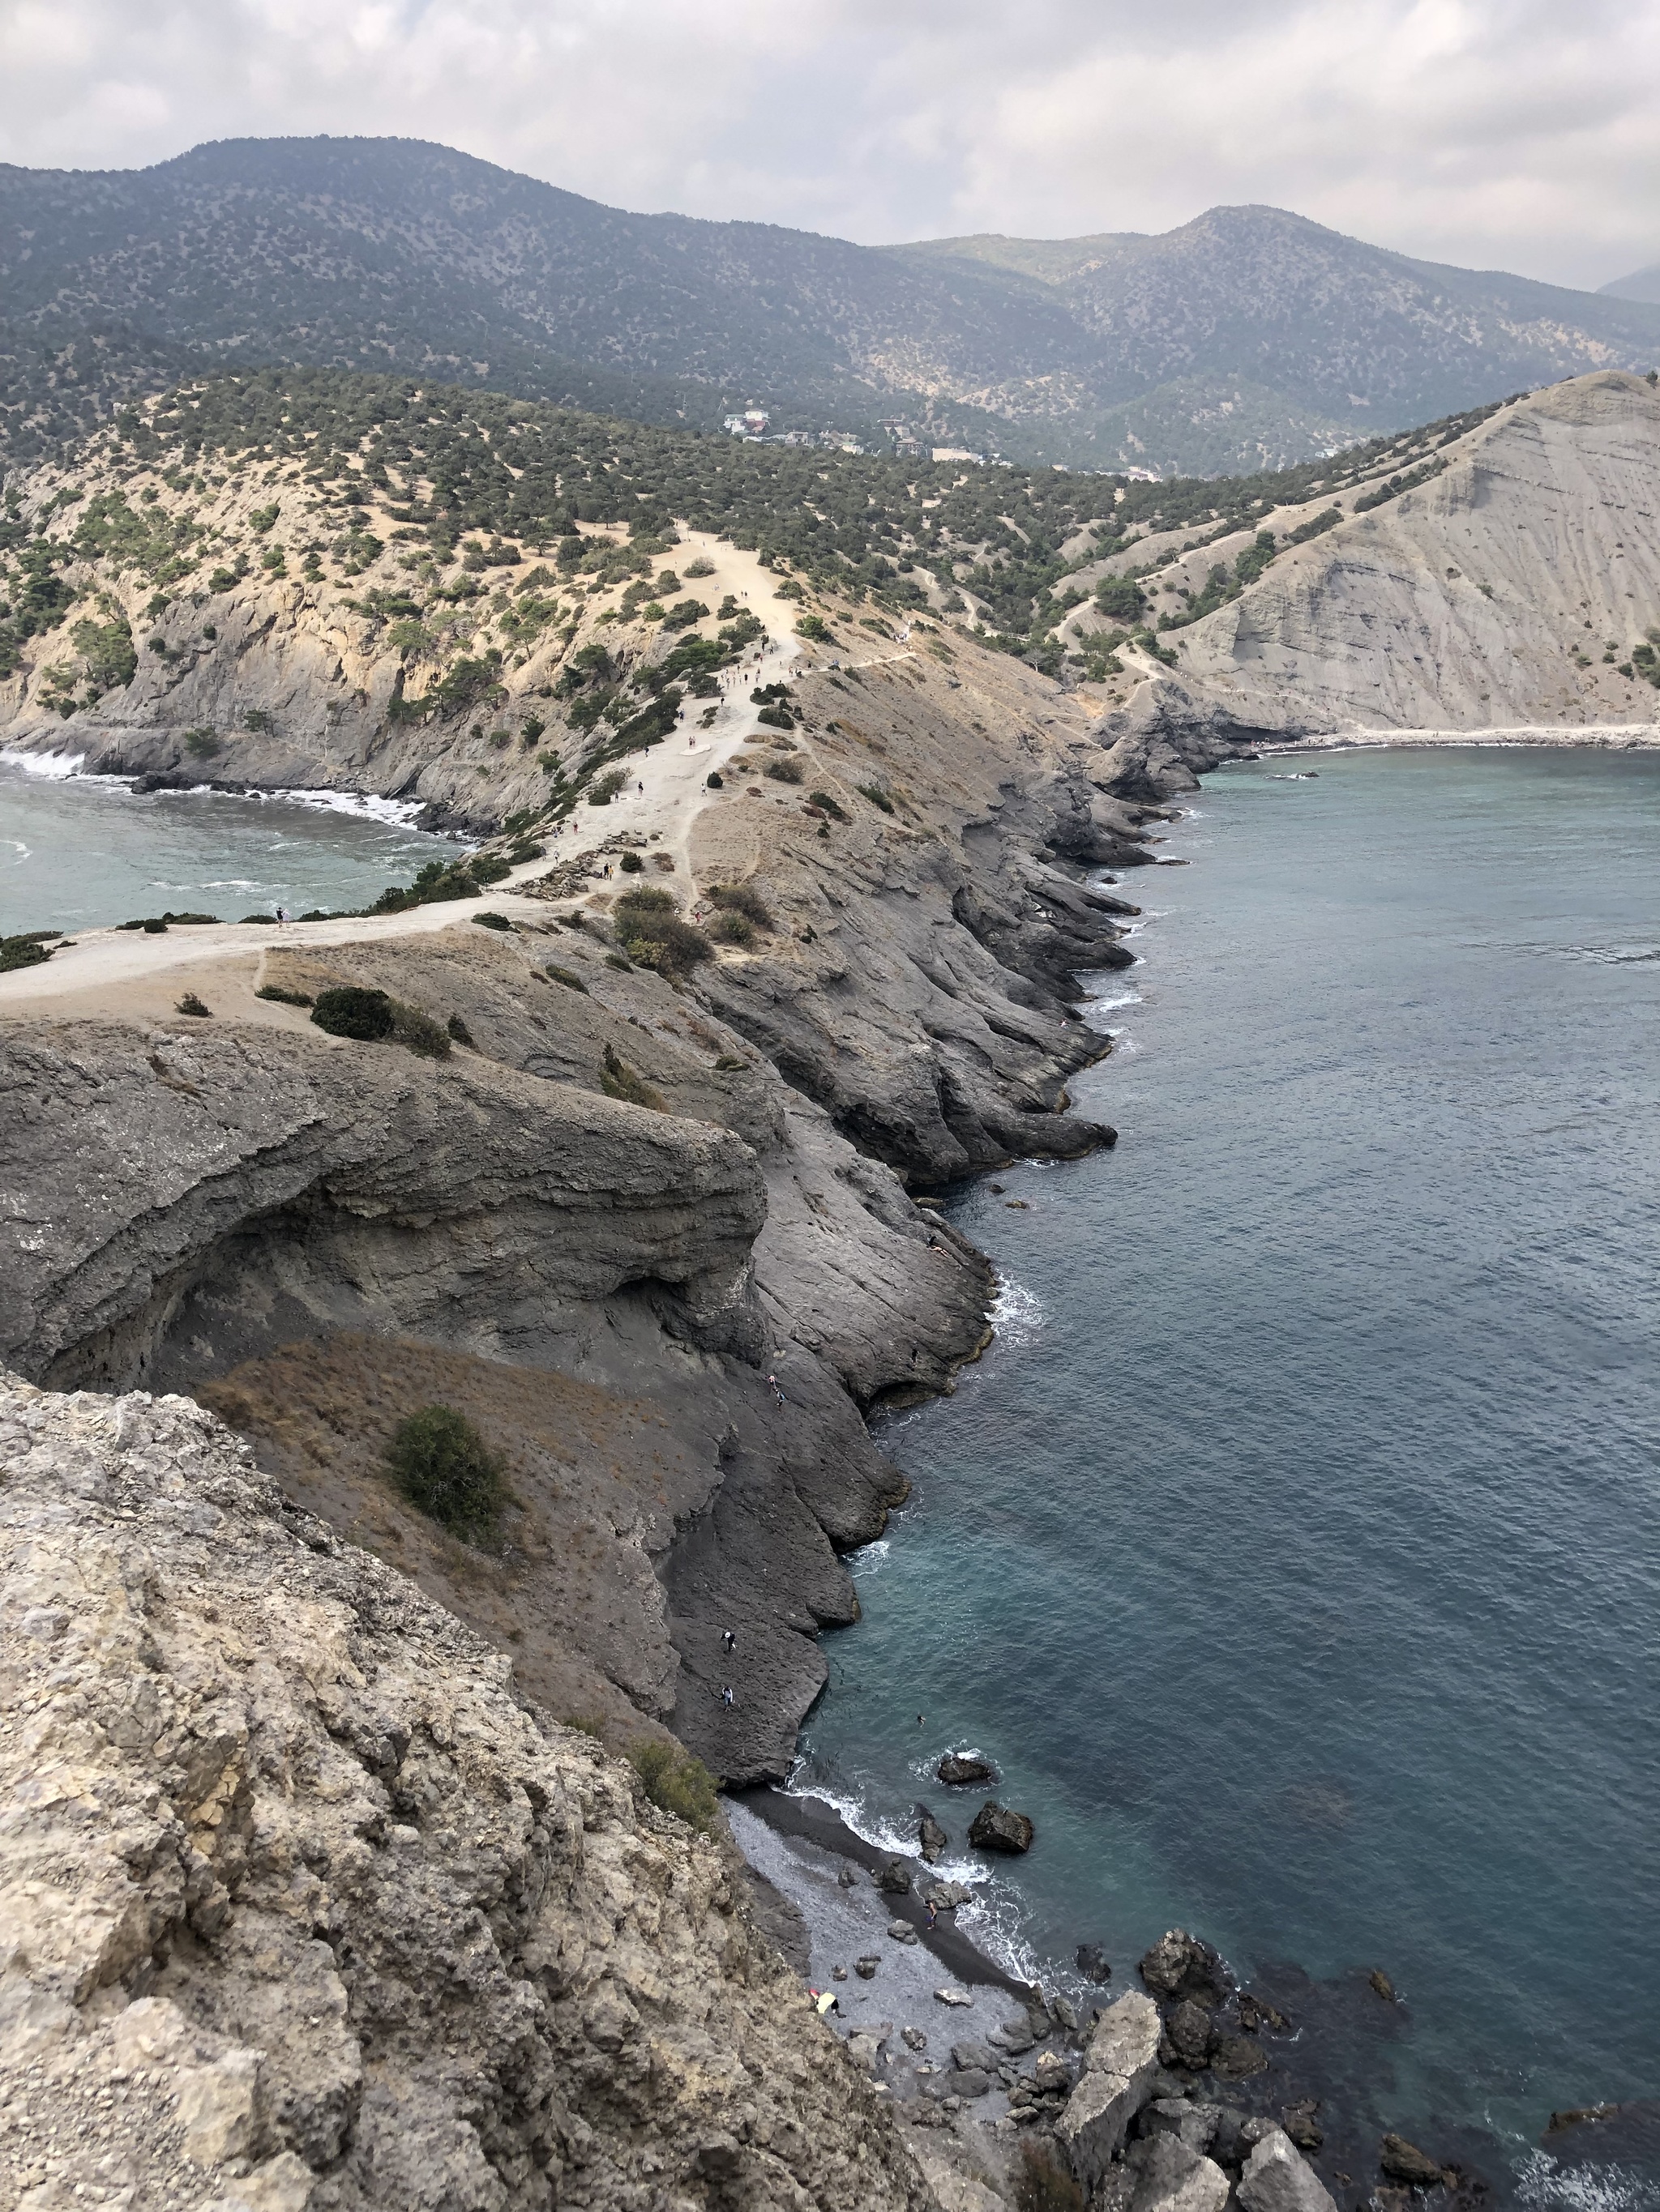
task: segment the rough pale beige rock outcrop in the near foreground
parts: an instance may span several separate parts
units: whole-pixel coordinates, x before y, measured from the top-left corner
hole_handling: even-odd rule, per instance
[[[179,1398],[0,1394],[7,2203],[907,2208],[726,1854]]]

